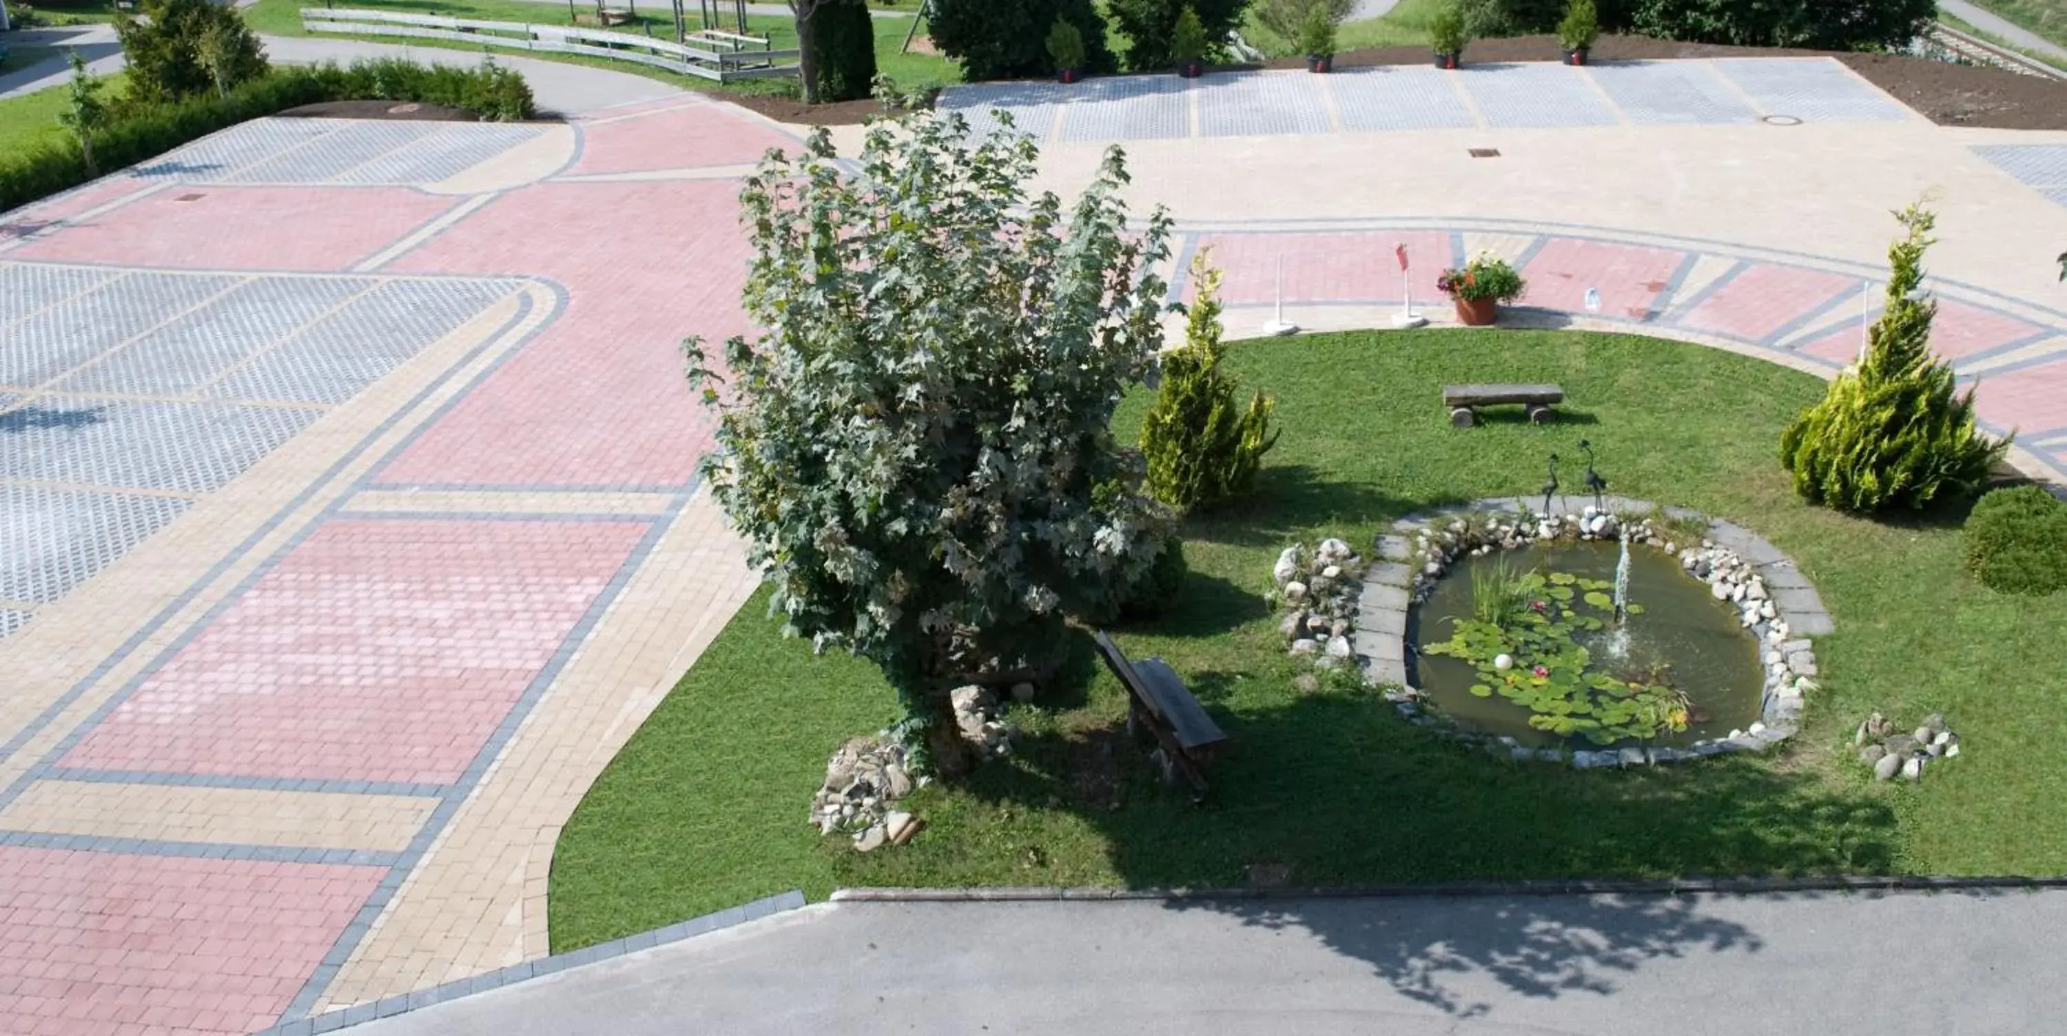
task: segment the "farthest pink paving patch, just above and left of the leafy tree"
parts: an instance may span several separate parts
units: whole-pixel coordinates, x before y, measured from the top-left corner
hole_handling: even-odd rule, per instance
[[[612,112],[616,114],[616,112]],[[575,176],[692,170],[761,161],[767,149],[794,151],[798,139],[752,122],[732,105],[699,103],[581,126]]]

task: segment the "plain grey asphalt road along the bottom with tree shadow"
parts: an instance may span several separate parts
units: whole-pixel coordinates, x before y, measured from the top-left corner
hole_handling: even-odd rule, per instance
[[[2067,891],[827,904],[353,1036],[2050,1032]]]

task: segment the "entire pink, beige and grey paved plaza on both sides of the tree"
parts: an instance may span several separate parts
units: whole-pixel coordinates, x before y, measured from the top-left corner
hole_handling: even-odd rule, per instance
[[[1490,248],[1519,323],[1827,376],[1933,196],[1937,349],[2067,476],[2067,134],[1794,60],[1085,87],[949,103],[1019,108],[1060,190],[1129,141],[1230,337],[1279,283],[1383,325],[1401,244],[1441,323]],[[678,343],[748,331],[736,194],[794,143],[692,95],[260,120],[0,215],[0,1032],[250,1032],[546,955],[560,825],[754,583]]]

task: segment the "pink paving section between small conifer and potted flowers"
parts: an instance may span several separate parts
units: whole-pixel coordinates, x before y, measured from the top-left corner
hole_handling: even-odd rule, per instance
[[[1267,304],[1277,296],[1277,261],[1284,258],[1286,302],[1399,302],[1399,261],[1393,248],[1408,246],[1416,302],[1441,302],[1434,281],[1449,267],[1449,234],[1439,232],[1356,232],[1356,234],[1209,234],[1211,263],[1224,273],[1222,302]],[[1186,277],[1184,298],[1197,285]]]

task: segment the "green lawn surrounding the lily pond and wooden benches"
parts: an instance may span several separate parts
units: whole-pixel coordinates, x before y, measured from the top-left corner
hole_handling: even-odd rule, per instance
[[[1298,885],[1763,873],[2063,873],[2067,593],[1968,581],[1943,523],[1800,505],[1773,455],[1821,387],[1732,354],[1618,335],[1354,333],[1236,345],[1284,428],[1253,505],[1186,527],[1178,614],[1120,631],[1164,656],[1234,738],[1215,798],[1166,790],[1116,732],[1122,697],[1077,643],[1015,707],[1019,753],[912,806],[928,827],[868,856],[806,825],[825,757],[895,713],[866,664],[785,641],[754,600],[604,771],[560,835],[552,945],[570,949],[800,887]],[[1556,380],[1567,422],[1451,430],[1437,389]],[[1143,399],[1122,426],[1139,428]],[[1300,695],[1261,593],[1296,538],[1368,546],[1437,502],[1530,492],[1544,455],[1600,449],[1616,492],[1732,517],[1788,550],[1838,620],[1825,691],[1782,755],[1656,771],[1517,765],[1445,742],[1354,687]],[[1852,761],[1869,709],[1943,709],[1968,753],[1922,788]]]

